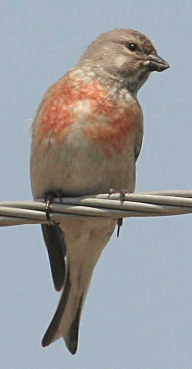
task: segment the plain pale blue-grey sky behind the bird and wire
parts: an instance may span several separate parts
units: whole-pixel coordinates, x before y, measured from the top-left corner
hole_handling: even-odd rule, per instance
[[[30,121],[47,87],[101,32],[145,33],[171,68],[139,92],[136,191],[192,188],[191,0],[3,1],[1,200],[31,198]],[[39,225],[1,228],[0,369],[191,369],[192,216],[132,218],[108,244],[78,352],[42,336],[58,300]]]

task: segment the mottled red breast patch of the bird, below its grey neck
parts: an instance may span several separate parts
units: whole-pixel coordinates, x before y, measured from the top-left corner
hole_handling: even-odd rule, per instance
[[[34,135],[42,150],[53,142],[63,143],[80,130],[90,143],[100,145],[108,157],[121,152],[130,141],[138,122],[141,108],[133,99],[121,103],[109,97],[97,82],[74,84],[61,80],[48,91],[40,108]]]

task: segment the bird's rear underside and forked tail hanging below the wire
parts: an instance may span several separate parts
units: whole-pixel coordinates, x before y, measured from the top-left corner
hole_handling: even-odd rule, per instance
[[[57,260],[65,268],[66,277],[62,284],[60,300],[54,317],[43,337],[42,346],[48,346],[63,337],[69,351],[75,354],[78,345],[81,310],[88,291],[95,264],[113,232],[115,221],[66,220],[55,227],[44,229],[54,283],[60,286],[63,277],[57,279]],[[51,225],[52,227],[52,225]],[[58,243],[57,243],[58,242]],[[67,253],[66,253],[67,250]],[[65,263],[64,263],[65,262]]]

